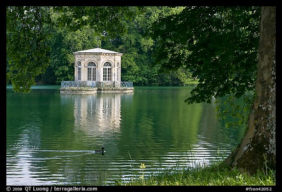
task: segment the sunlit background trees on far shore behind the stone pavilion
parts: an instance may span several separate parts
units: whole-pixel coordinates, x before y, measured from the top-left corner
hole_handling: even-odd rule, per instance
[[[132,9],[131,11],[138,11],[135,7],[127,7],[127,12],[129,12],[129,8]],[[41,12],[43,10],[47,12],[46,9],[41,9]],[[66,12],[70,11],[67,9],[57,11],[58,9],[57,7],[48,10],[52,21],[58,22]],[[85,7],[78,7],[71,11],[91,11],[84,9]],[[46,71],[38,74],[35,77],[35,82],[46,85],[60,84],[61,81],[74,81],[74,56],[72,53],[98,46],[103,49],[124,53],[121,61],[121,81],[131,81],[134,85],[185,85],[188,79],[191,78],[191,72],[179,67],[176,71],[159,73],[161,65],[155,64],[152,58],[152,51],[156,46],[155,40],[145,35],[160,14],[176,14],[182,9],[182,7],[143,7],[142,14],[135,14],[131,18],[120,16],[122,29],[118,28],[117,32],[118,30],[125,30],[126,32],[117,33],[115,37],[111,37],[106,31],[99,33],[100,29],[96,29],[88,23],[77,23],[75,25],[75,22],[70,21],[68,26],[57,24],[52,25],[52,27],[45,23],[42,28],[52,34],[47,38],[48,42],[46,42],[46,45],[50,47],[46,51],[46,55],[49,56],[50,60],[46,66]],[[31,9],[26,11],[32,12]],[[102,12],[100,14],[107,14],[107,16],[109,16],[108,12],[115,12],[112,9],[102,8],[92,11],[99,11]],[[99,17],[102,16],[99,15]],[[82,16],[83,18],[84,16]],[[66,20],[66,18],[63,19]],[[19,22],[19,24],[22,23]],[[97,25],[99,24],[102,27],[105,23],[97,23]],[[112,25],[116,25],[114,21]]]

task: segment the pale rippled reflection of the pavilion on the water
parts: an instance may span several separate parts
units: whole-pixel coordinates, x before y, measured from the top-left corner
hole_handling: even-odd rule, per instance
[[[64,94],[62,99],[73,100],[74,125],[80,130],[95,134],[119,132],[122,97],[133,93]]]

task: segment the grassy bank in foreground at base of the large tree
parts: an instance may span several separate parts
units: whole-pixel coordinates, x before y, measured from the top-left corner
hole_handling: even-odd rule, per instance
[[[275,186],[275,171],[258,171],[255,175],[241,173],[238,170],[229,170],[227,168],[219,169],[219,164],[209,165],[204,168],[190,168],[179,171],[165,170],[159,175],[144,177],[143,170],[145,165],[141,164],[141,173],[139,179],[131,182],[117,181],[116,185],[134,185],[134,186]]]

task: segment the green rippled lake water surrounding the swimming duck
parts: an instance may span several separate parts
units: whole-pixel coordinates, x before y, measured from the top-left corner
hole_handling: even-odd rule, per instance
[[[114,185],[227,157],[244,128],[225,128],[215,104],[187,105],[192,86],[134,93],[6,89],[6,185]],[[105,147],[105,152],[95,149]]]

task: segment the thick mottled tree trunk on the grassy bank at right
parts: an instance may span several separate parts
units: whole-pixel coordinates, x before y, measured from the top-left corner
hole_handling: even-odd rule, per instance
[[[250,173],[276,169],[276,7],[261,7],[255,89],[247,133],[224,162]]]

